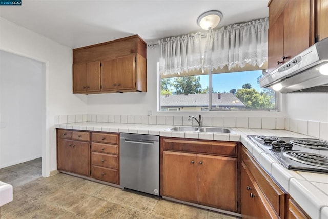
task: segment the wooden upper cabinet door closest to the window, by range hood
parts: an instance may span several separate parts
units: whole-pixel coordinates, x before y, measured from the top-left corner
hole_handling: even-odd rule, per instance
[[[268,72],[278,67],[283,56],[283,14],[269,26],[268,34]]]

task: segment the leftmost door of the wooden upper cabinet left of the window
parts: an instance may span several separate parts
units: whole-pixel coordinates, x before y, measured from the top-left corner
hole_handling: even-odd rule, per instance
[[[87,91],[86,63],[73,65],[73,93],[83,93]]]

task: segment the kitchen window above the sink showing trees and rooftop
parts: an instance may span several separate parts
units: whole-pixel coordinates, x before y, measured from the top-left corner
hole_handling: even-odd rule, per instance
[[[275,92],[259,86],[262,70],[177,76],[159,78],[160,111],[277,108]]]

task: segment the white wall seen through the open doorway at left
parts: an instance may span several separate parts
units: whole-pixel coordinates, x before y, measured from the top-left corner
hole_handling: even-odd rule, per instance
[[[43,65],[0,50],[0,168],[41,157]]]

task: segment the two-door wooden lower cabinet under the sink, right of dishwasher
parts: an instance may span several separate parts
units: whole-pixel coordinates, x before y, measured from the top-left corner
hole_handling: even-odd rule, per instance
[[[193,149],[189,153],[185,145],[188,140],[177,139],[176,144],[172,141],[172,138],[161,139],[161,195],[237,212],[237,157],[211,155],[211,151],[200,154]],[[179,144],[185,151],[169,151],[176,150]],[[202,144],[210,145],[210,142],[202,140],[198,144],[199,150],[203,150]],[[219,147],[215,144],[218,143],[213,142],[213,148]],[[236,143],[230,144],[237,147]],[[217,148],[214,151],[218,153]]]

